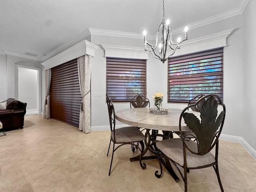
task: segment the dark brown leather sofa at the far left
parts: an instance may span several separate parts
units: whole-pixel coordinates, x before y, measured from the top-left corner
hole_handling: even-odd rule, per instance
[[[20,102],[14,98],[9,98],[5,101],[7,102],[6,109],[0,109],[0,121],[3,124],[1,131],[22,129],[27,103]]]

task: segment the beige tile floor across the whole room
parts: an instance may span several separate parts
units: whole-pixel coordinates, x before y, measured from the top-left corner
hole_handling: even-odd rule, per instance
[[[182,181],[162,178],[156,159],[130,162],[130,145],[106,156],[110,131],[84,134],[42,115],[25,116],[24,129],[0,137],[0,192],[183,192]],[[256,161],[239,143],[221,140],[220,177],[225,192],[256,191]],[[213,168],[188,173],[189,192],[220,192]]]

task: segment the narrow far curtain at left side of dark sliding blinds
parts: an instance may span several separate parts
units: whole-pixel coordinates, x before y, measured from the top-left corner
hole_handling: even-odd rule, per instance
[[[44,102],[44,119],[50,118],[50,85],[52,78],[52,70],[45,71],[45,102]]]

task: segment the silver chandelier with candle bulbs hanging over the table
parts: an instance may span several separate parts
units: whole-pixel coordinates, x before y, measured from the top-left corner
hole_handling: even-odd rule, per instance
[[[146,30],[144,30],[143,34],[144,34],[144,44],[145,44],[145,51],[150,51],[154,58],[157,58],[159,60],[161,60],[163,63],[170,58],[176,51],[176,49],[180,48],[180,44],[188,39],[187,36],[187,31],[188,31],[188,27],[186,26],[184,31],[185,31],[185,38],[183,40],[181,40],[181,38],[179,37],[177,40],[177,43],[172,41],[172,32],[171,32],[171,28],[169,27],[170,24],[170,20],[166,20],[164,19],[164,0],[163,0],[163,19],[162,22],[160,23],[158,30],[156,31],[156,44],[151,45],[146,41]],[[158,44],[158,36],[160,36],[160,34],[158,34],[159,32],[161,32],[161,42]],[[167,51],[167,44],[170,47],[170,53],[167,54],[166,56],[166,51]],[[147,45],[150,46],[151,50],[147,50]],[[156,48],[159,47],[159,54],[157,54],[157,50]]]

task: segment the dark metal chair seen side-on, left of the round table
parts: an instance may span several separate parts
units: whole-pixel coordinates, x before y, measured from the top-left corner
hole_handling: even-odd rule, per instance
[[[113,150],[112,150],[112,158],[111,158],[111,163],[110,163],[110,168],[109,168],[109,173],[110,175],[111,172],[111,167],[112,167],[112,162],[113,162],[113,156],[114,152],[123,145],[126,144],[131,144],[136,146],[140,150],[140,166],[142,169],[146,168],[146,164],[141,162],[142,158],[142,152],[144,151],[144,140],[145,136],[142,134],[138,128],[129,126],[129,127],[122,127],[116,129],[116,116],[115,116],[115,109],[112,101],[109,99],[108,95],[106,95],[106,101],[108,104],[108,117],[109,117],[109,123],[110,123],[110,142],[108,146],[108,152],[110,149],[110,144],[113,142]],[[135,145],[135,142],[139,142],[141,145],[141,149],[138,147],[138,145]],[[115,144],[120,144],[115,148]],[[108,156],[108,153],[107,153]]]

